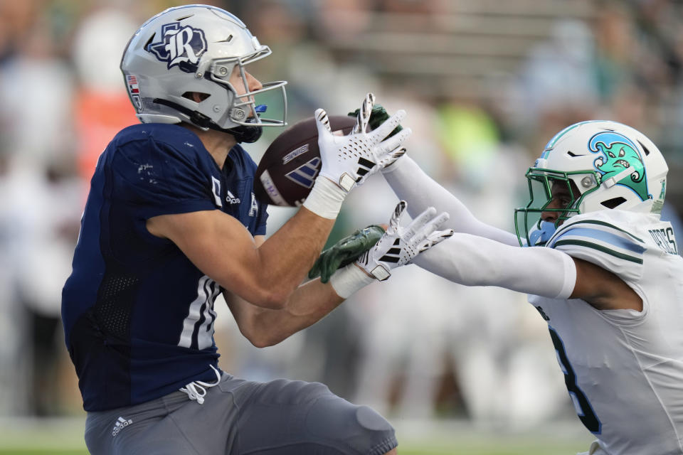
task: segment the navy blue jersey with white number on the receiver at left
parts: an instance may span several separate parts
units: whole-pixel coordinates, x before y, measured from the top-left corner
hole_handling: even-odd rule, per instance
[[[62,294],[85,410],[134,405],[216,378],[213,301],[222,289],[146,222],[223,210],[265,235],[255,170],[240,146],[221,170],[196,134],[172,124],[127,127],[102,153]]]

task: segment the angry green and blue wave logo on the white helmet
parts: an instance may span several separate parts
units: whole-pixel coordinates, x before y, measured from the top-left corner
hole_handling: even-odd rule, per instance
[[[642,200],[650,198],[645,165],[642,164],[637,146],[630,139],[615,132],[600,132],[591,137],[588,148],[592,153],[599,154],[593,166],[602,174],[602,181],[629,169],[630,172],[620,178],[618,185],[628,186]]]

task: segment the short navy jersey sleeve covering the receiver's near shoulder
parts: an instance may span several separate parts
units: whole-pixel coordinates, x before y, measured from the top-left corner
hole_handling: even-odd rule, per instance
[[[196,152],[149,139],[120,147],[112,159],[112,196],[142,218],[214,210]]]

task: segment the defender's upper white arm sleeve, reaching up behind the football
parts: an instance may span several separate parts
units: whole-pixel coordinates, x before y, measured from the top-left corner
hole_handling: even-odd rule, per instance
[[[427,208],[435,207],[437,213],[448,212],[450,215],[444,228],[519,246],[517,235],[477,220],[465,204],[428,176],[409,156],[396,161],[396,164],[383,171],[383,176],[396,196],[408,202],[411,217],[415,218]]]

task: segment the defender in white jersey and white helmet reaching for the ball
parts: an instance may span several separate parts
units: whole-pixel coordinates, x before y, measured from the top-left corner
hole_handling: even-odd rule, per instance
[[[597,438],[588,454],[683,454],[683,258],[660,220],[667,171],[635,129],[571,125],[526,173],[517,235],[481,223],[407,156],[383,171],[411,214],[450,213],[456,234],[415,264],[530,295]]]

